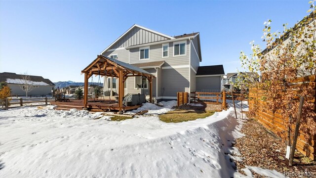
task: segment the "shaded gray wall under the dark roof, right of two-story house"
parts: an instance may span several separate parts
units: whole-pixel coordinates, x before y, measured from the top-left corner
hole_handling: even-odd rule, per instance
[[[221,91],[221,77],[197,77],[197,91]]]

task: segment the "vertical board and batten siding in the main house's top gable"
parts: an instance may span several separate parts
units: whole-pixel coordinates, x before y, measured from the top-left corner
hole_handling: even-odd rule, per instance
[[[112,45],[111,49],[127,47],[131,45],[141,45],[152,42],[159,42],[169,40],[166,37],[152,33],[150,31],[134,27],[127,34],[125,34],[117,43]]]

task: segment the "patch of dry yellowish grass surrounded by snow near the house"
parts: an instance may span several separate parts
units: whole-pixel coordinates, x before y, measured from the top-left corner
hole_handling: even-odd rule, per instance
[[[203,119],[213,115],[213,111],[202,110],[174,110],[166,114],[159,115],[160,121],[166,123],[179,123],[185,121],[193,121],[196,119]]]

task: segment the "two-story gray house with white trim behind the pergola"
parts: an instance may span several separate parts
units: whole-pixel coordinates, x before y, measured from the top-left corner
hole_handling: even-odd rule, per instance
[[[197,71],[202,61],[199,38],[198,32],[171,37],[135,24],[100,54],[155,75],[153,95],[158,101],[176,99],[178,91],[204,89],[197,84]],[[118,89],[117,79],[107,77],[105,80],[104,91]],[[221,87],[220,83],[217,85],[216,89]],[[148,87],[146,79],[129,77],[124,84],[124,94],[148,95]],[[213,84],[204,87],[213,89]]]

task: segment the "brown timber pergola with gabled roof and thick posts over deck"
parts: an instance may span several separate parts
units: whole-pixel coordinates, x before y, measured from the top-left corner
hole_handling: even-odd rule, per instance
[[[118,78],[118,107],[119,112],[123,107],[124,82],[128,77],[143,76],[146,77],[149,83],[149,99],[152,100],[153,93],[153,78],[156,78],[151,73],[127,64],[116,59],[112,59],[103,55],[98,55],[97,58],[91,62],[81,73],[84,73],[84,108],[87,108],[88,103],[88,80],[92,75],[100,75],[107,77]]]

